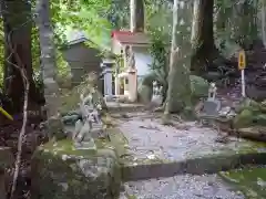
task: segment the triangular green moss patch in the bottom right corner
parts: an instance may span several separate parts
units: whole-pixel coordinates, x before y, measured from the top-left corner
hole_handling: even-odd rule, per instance
[[[250,199],[266,198],[266,168],[231,170],[221,176]]]

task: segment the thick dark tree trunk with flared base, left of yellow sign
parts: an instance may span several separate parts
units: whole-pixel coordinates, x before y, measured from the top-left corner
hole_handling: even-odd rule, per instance
[[[213,31],[214,0],[194,0],[193,7],[192,71],[201,74],[218,54]]]

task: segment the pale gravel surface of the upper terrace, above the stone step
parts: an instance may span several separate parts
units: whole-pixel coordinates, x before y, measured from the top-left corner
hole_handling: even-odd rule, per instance
[[[217,130],[201,127],[195,122],[165,126],[147,113],[130,115],[130,118],[119,122],[119,128],[127,138],[129,153],[135,159],[181,161],[252,146],[249,142],[234,137],[229,137],[227,143],[218,143],[221,135]]]

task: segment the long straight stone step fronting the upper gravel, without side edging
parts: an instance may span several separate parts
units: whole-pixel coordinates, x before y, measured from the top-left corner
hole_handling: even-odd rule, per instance
[[[124,181],[137,181],[177,175],[206,175],[241,168],[245,165],[266,165],[266,153],[219,155],[201,157],[172,163],[139,163],[123,165],[122,178]]]

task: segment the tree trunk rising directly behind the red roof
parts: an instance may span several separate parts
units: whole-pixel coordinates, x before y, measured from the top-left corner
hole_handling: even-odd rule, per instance
[[[144,31],[144,2],[143,0],[131,0],[131,32]]]

